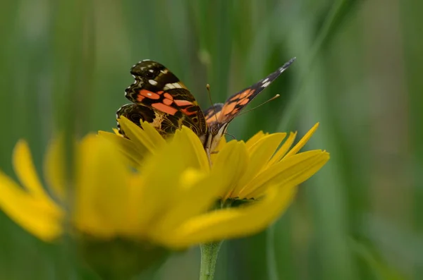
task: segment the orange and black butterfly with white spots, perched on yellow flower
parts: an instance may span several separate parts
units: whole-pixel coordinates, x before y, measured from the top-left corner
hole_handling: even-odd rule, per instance
[[[116,118],[125,116],[138,126],[140,120],[152,123],[164,138],[187,126],[198,135],[204,150],[210,154],[233,118],[294,61],[295,58],[290,59],[266,78],[229,97],[225,103],[214,104],[202,111],[195,97],[176,75],[161,63],[146,59],[130,69],[135,81],[126,88],[125,97],[133,104],[121,106]],[[125,136],[119,123],[118,132]]]

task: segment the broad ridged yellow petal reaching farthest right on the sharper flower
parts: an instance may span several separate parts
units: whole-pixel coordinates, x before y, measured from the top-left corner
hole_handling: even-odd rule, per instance
[[[254,178],[243,190],[243,197],[260,197],[269,185],[298,185],[313,176],[329,160],[329,153],[312,150],[284,158]]]

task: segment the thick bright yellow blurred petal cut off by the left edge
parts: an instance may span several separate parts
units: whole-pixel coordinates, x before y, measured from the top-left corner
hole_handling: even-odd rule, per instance
[[[35,198],[0,172],[0,207],[13,221],[43,241],[62,233],[63,212],[49,201]]]

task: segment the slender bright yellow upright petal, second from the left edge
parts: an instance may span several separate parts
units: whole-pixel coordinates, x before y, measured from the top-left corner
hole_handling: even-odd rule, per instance
[[[20,140],[13,150],[13,168],[20,183],[35,197],[39,197],[48,203],[50,207],[56,207],[51,197],[47,195],[39,181],[35,166],[32,163],[30,148],[27,142]]]

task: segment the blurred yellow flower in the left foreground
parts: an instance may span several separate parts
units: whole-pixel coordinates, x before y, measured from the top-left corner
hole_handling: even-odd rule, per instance
[[[62,142],[53,142],[46,154],[49,188],[43,188],[29,147],[21,140],[13,152],[13,166],[23,187],[0,171],[0,207],[43,241],[59,238],[65,231],[65,219],[69,219],[72,231],[78,234],[185,248],[192,244],[189,237],[183,243],[168,241],[173,239],[173,227],[209,209],[219,194],[212,181],[206,180],[210,175],[202,172],[205,162],[185,157],[178,150],[183,146],[184,152],[197,152],[187,130],[178,132],[170,142],[163,140],[161,152],[146,157],[140,172],[124,164],[111,142],[88,135],[75,148],[75,179],[68,189]],[[150,136],[148,140],[155,134]]]

